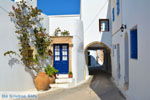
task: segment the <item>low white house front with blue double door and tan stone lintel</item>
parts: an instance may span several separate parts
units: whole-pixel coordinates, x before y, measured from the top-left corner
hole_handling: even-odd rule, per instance
[[[68,72],[73,73],[73,79],[74,82],[80,83],[84,79],[86,79],[85,73],[87,72],[84,68],[85,61],[84,61],[84,51],[83,51],[83,25],[80,21],[80,15],[57,15],[57,16],[49,16],[49,35],[52,37],[58,37],[60,41],[53,43],[53,48],[55,49],[54,45],[57,45],[61,47],[61,45],[67,45],[69,44],[68,49],[68,65],[62,65],[61,62],[65,62],[65,60],[61,59],[63,55],[56,55],[55,50],[53,49],[53,66],[56,68],[58,67],[60,74],[68,74]],[[59,28],[61,31],[67,30],[69,31],[69,37],[72,39],[67,43],[69,37],[67,36],[55,36],[55,30]],[[62,38],[65,38],[66,41],[63,41]],[[52,40],[53,41],[53,40]],[[70,45],[71,44],[71,45]],[[59,50],[59,54],[61,54],[61,50]],[[56,56],[60,57],[59,61],[56,61]],[[58,63],[56,65],[55,63]],[[61,68],[62,67],[62,68]],[[66,68],[65,72],[61,73],[61,70],[64,70]],[[69,68],[69,69],[68,69]]]

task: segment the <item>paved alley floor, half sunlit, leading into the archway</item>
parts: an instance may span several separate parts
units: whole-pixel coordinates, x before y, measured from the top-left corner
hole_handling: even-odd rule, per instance
[[[71,89],[60,89],[38,100],[125,100],[106,73],[94,75],[88,82]]]

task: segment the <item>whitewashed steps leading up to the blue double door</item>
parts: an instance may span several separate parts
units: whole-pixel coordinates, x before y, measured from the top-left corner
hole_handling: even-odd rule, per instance
[[[69,88],[73,85],[73,79],[68,78],[68,74],[59,74],[55,84],[50,84],[51,88]]]

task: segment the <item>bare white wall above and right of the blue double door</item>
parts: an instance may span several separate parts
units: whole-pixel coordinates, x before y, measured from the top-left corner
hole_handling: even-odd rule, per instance
[[[49,34],[54,35],[56,28],[62,31],[67,30],[73,36],[72,48],[72,71],[75,83],[84,80],[85,75],[85,61],[83,52],[83,25],[80,21],[80,15],[58,15],[49,16]]]

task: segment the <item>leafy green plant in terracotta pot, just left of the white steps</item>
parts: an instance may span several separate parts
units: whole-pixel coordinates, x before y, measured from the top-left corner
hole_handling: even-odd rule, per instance
[[[54,67],[48,65],[45,68],[45,73],[49,76],[49,80],[50,80],[50,84],[55,83],[55,79],[56,79],[56,73],[58,72],[58,70],[56,70]]]

